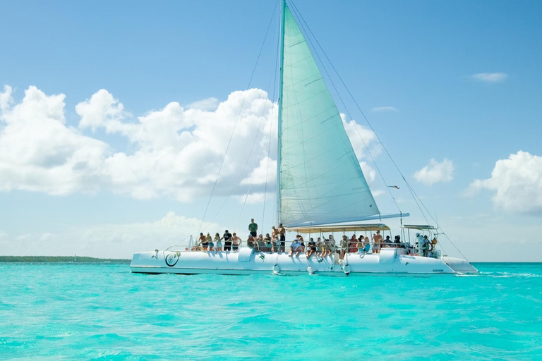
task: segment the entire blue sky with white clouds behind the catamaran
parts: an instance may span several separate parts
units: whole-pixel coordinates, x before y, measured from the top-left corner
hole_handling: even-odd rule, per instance
[[[542,262],[542,3],[294,4],[372,126],[319,63],[380,211],[435,224],[389,152],[445,253]],[[0,0],[0,255],[270,230],[276,8]]]

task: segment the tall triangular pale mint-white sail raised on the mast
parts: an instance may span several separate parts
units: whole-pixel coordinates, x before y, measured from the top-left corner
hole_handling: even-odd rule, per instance
[[[293,227],[379,214],[311,49],[286,4],[283,11],[279,221]]]

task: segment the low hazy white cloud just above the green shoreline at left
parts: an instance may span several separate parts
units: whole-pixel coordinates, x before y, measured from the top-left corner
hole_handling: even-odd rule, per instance
[[[3,252],[9,255],[81,255],[131,258],[133,252],[164,250],[169,245],[188,245],[190,235],[200,229],[201,220],[169,212],[158,221],[131,224],[100,224],[86,228],[70,227],[57,233],[25,233],[3,238]],[[203,230],[202,230],[203,231]],[[212,223],[205,232],[224,231]]]

